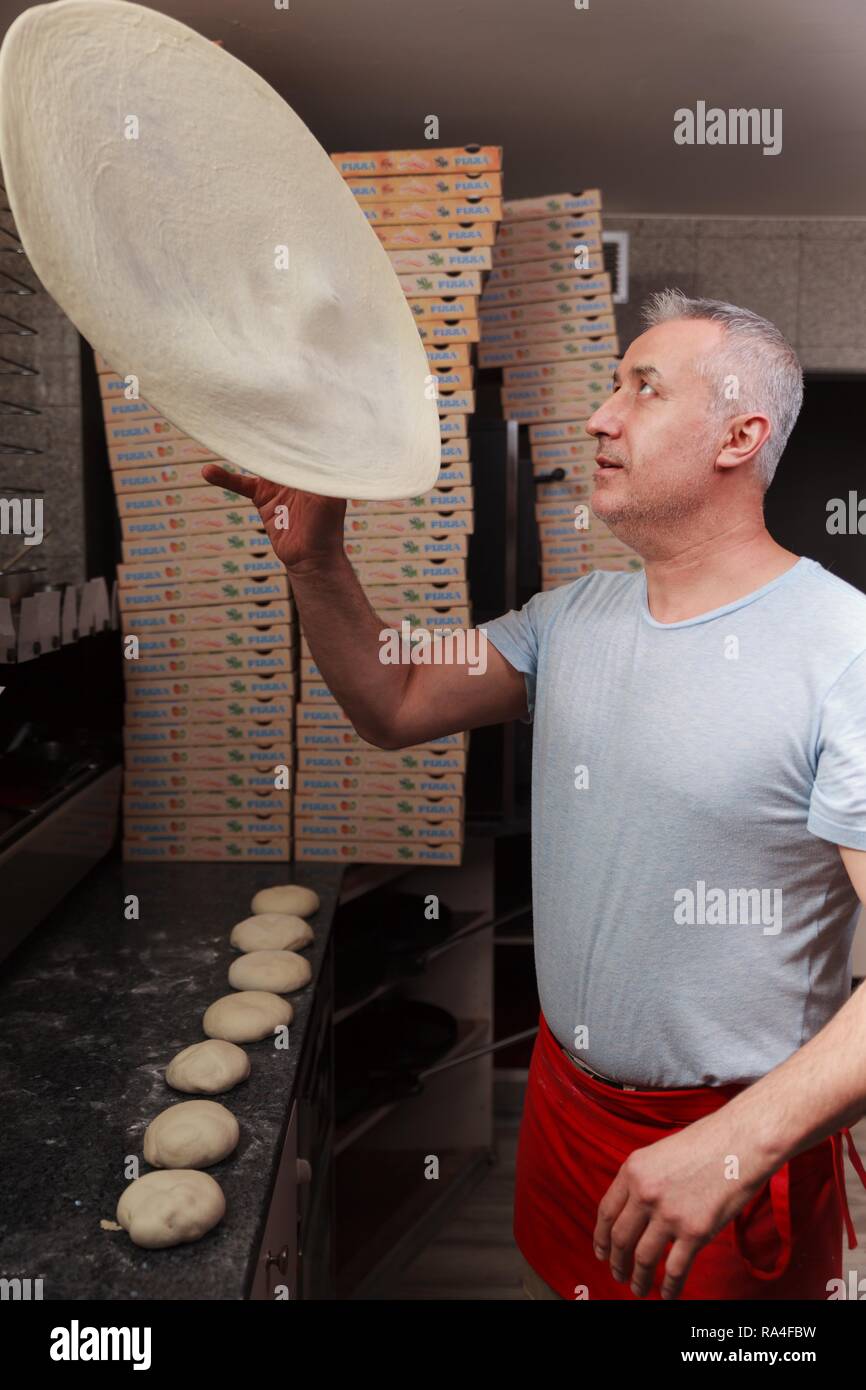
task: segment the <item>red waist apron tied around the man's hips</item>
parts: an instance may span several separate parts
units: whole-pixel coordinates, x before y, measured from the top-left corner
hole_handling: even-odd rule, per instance
[[[514,1238],[563,1298],[634,1300],[592,1252],[598,1207],[623,1162],[726,1105],[742,1086],[620,1091],[563,1054],[544,1015],[532,1051],[514,1187]],[[842,1136],[798,1154],[696,1254],[681,1298],[827,1298],[842,1273],[841,1222],[856,1236],[845,1198]],[[663,1266],[648,1298],[660,1298]]]

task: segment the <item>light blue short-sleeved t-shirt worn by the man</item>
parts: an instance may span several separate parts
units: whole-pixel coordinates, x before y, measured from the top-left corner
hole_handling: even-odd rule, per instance
[[[630,1086],[751,1083],[845,1002],[866,596],[815,560],[657,623],[592,571],[487,627],[525,674],[541,1006]]]

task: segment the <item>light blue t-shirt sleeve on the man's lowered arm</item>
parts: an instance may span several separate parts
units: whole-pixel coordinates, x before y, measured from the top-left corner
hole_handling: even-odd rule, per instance
[[[806,824],[822,840],[866,849],[866,652],[824,699]]]

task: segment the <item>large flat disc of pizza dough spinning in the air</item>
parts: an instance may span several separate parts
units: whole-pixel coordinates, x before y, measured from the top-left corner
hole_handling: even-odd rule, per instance
[[[179,430],[324,496],[434,486],[430,366],[388,254],[252,68],[125,0],[35,6],[0,51],[0,160],[33,271]]]

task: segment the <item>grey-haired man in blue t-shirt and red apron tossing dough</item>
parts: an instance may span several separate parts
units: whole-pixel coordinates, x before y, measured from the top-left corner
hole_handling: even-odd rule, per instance
[[[763,523],[802,400],[781,334],[678,292],[646,321],[587,423],[592,509],[645,573],[537,594],[484,674],[379,662],[342,502],[206,477],[260,507],[363,738],[534,720],[514,1232],[539,1295],[824,1298],[866,1111],[866,596]]]

